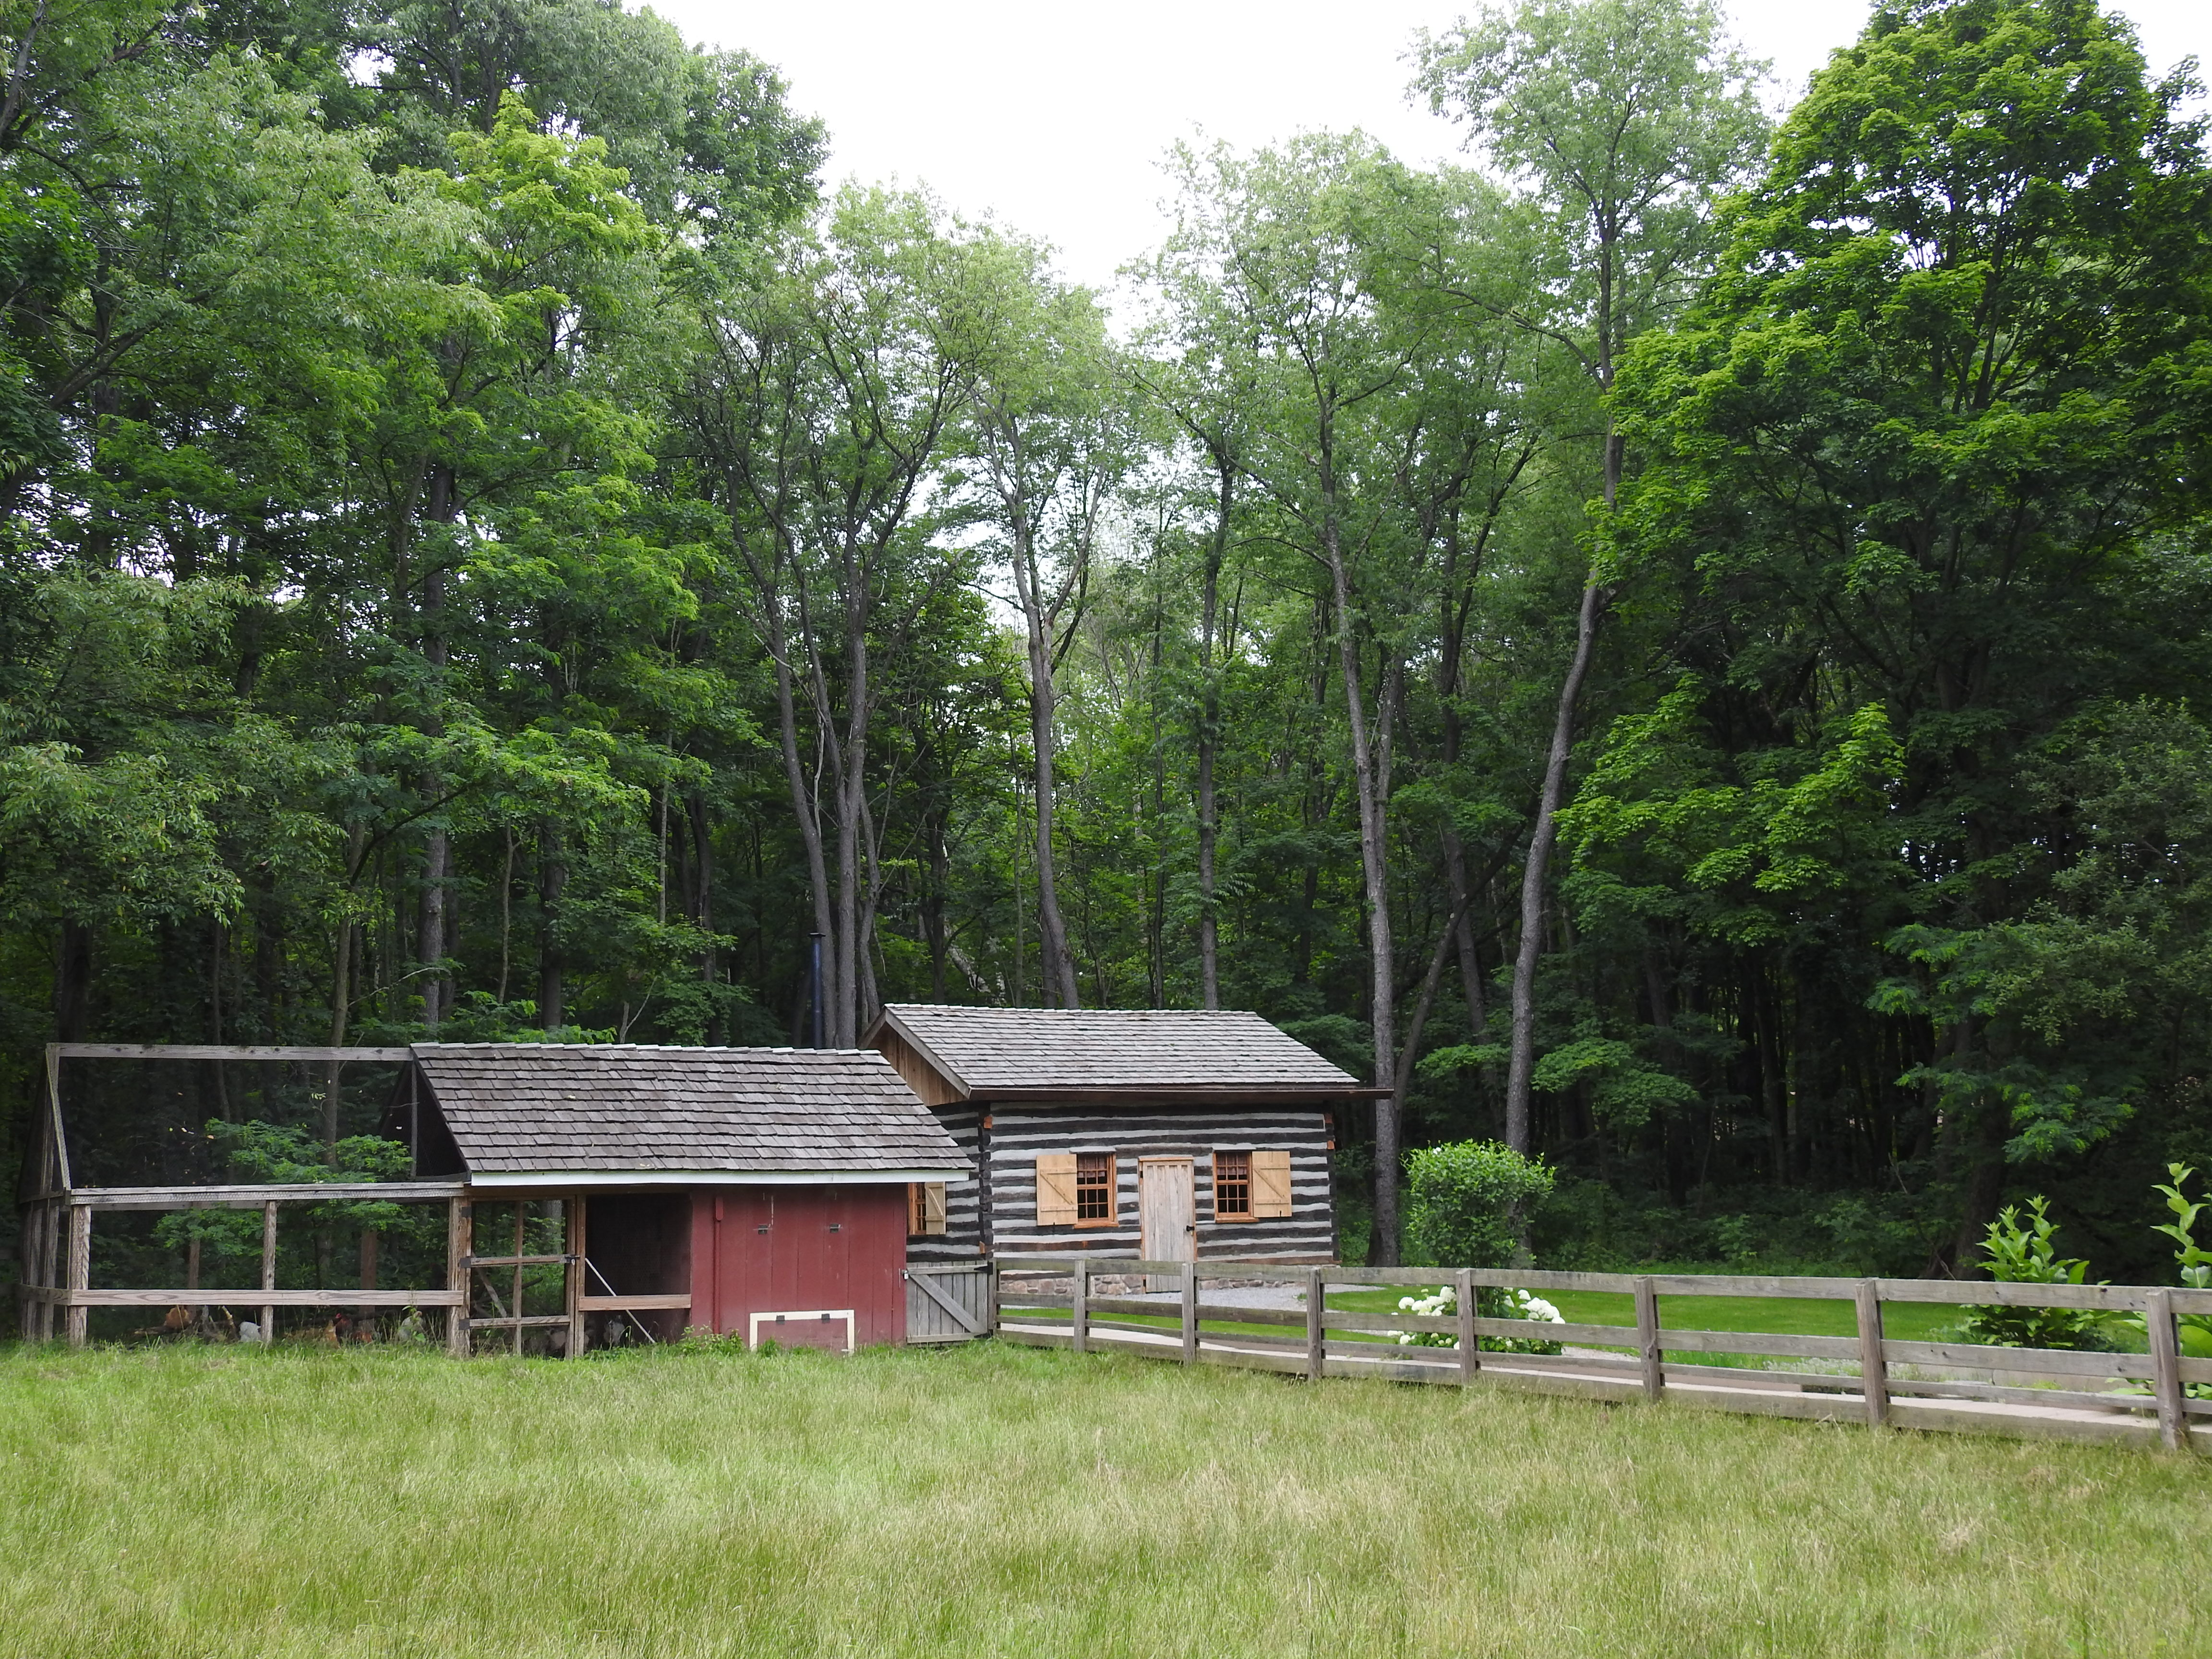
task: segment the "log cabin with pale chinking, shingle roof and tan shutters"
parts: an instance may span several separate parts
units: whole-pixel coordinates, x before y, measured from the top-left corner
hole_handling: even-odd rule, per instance
[[[914,1261],[1334,1261],[1334,1121],[1374,1091],[1256,1013],[896,1002],[869,1044],[973,1159],[916,1183]]]

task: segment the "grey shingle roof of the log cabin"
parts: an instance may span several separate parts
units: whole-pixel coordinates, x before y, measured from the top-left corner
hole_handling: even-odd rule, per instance
[[[883,1022],[967,1097],[1349,1095],[1358,1079],[1256,1013],[956,1009],[894,1002]]]

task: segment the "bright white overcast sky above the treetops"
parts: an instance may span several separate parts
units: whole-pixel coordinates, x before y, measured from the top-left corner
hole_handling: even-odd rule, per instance
[[[686,40],[776,64],[796,108],[830,124],[830,179],[927,184],[964,215],[1053,241],[1077,281],[1164,232],[1159,157],[1203,131],[1237,146],[1358,126],[1407,161],[1458,153],[1455,128],[1411,108],[1416,29],[1455,0],[655,0]],[[2108,0],[2154,71],[2212,62],[2212,0]],[[1728,0],[1736,38],[1796,91],[1849,44],[1867,0]],[[1778,95],[1778,93],[1776,93]]]

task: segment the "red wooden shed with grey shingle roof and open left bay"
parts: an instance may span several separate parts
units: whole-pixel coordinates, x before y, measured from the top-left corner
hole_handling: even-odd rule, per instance
[[[971,1168],[874,1051],[416,1044],[414,1062],[416,1175],[467,1181],[476,1239],[491,1212],[493,1237],[511,1225],[462,1252],[491,1263],[467,1318],[518,1347],[526,1323],[564,1323],[526,1312],[526,1270],[555,1261],[568,1352],[688,1325],[902,1343],[909,1194]]]

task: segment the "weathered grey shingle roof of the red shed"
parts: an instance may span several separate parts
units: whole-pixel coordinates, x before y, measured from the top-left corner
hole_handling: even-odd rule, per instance
[[[867,1048],[422,1042],[414,1057],[469,1172],[854,1177],[964,1172]]]

